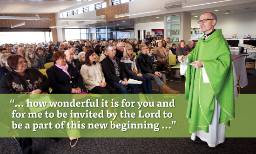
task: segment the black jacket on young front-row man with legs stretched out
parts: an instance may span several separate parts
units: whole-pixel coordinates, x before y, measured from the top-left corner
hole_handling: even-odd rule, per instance
[[[137,57],[137,60],[140,65],[142,73],[155,74],[156,68],[153,67],[153,64],[151,64],[151,60],[148,54],[144,55],[142,52],[140,52]]]

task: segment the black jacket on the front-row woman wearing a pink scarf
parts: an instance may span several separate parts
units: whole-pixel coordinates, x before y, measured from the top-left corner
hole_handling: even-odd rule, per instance
[[[68,64],[67,72],[71,78],[55,64],[46,70],[47,76],[50,78],[50,87],[53,89],[51,94],[71,94],[72,88],[77,87],[80,87],[81,91],[87,92],[83,86],[83,77],[73,64]]]

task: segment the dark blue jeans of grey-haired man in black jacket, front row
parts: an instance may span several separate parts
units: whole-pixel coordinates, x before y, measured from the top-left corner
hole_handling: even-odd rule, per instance
[[[117,83],[114,81],[114,83],[111,84],[111,87],[113,87],[115,90],[121,91],[122,94],[130,94],[130,92],[127,90],[127,88],[122,85],[121,83]],[[132,89],[132,94],[138,94],[139,88],[137,84],[128,84],[129,88]]]

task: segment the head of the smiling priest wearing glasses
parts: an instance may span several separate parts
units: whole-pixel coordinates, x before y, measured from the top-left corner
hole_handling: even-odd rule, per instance
[[[213,19],[210,13],[204,13],[201,15],[200,20],[203,19]],[[200,22],[201,31],[206,35],[214,30],[214,25],[216,24],[216,20],[207,20],[206,22]]]

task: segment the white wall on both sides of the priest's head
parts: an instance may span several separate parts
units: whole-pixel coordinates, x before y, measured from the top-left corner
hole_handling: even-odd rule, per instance
[[[251,34],[251,38],[256,38],[255,14],[256,12],[218,15],[215,28],[222,29],[225,38],[231,39],[233,33],[238,34],[238,39],[243,39],[243,34]],[[191,21],[191,27],[199,28],[197,21]]]

